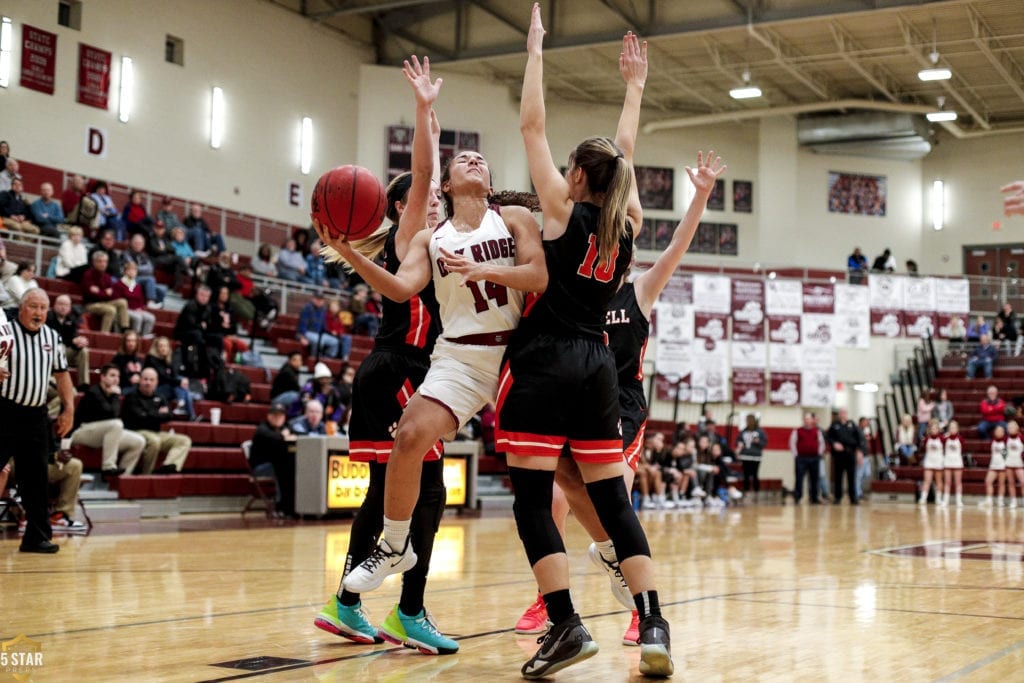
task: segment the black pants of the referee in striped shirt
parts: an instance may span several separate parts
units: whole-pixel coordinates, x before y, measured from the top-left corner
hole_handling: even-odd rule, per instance
[[[50,429],[45,405],[27,408],[0,398],[0,468],[14,459],[14,480],[27,521],[23,546],[38,546],[53,536],[47,513],[46,478],[52,446]]]

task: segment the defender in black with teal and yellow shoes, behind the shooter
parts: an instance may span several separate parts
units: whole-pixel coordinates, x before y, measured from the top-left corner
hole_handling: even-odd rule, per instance
[[[429,62],[425,60],[422,68],[415,57],[413,62],[407,61],[404,69],[417,99],[413,171],[399,175],[388,185],[386,215],[392,225],[353,244],[353,248],[370,258],[383,252],[384,267],[391,273],[398,270],[413,237],[421,229],[433,228],[440,212],[438,185],[436,178],[432,178],[437,168],[440,127],[431,109],[440,83],[431,83]],[[348,572],[370,556],[381,536],[384,478],[394,443],[393,431],[427,374],[430,351],[440,333],[432,286],[406,302],[386,297],[382,301],[382,319],[374,349],[359,365],[352,383],[352,415],[348,425],[349,459],[368,464],[370,485],[352,522],[338,592],[331,596],[313,624],[358,643],[388,640],[428,654],[451,654],[458,651],[459,644],[437,630],[423,606],[434,536],[444,513],[440,441],[424,455],[420,495],[410,521],[416,562],[404,571],[399,602],[379,630],[362,611],[359,595],[343,586]]]

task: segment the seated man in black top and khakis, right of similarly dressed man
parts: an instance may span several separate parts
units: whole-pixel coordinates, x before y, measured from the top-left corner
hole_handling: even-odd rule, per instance
[[[165,340],[166,341],[166,340]],[[191,449],[191,439],[184,434],[160,431],[160,426],[174,419],[167,399],[157,393],[157,371],[146,368],[138,382],[138,390],[125,396],[125,427],[136,431],[145,439],[142,453],[143,462],[151,467],[157,457],[164,454],[164,464],[155,470],[156,474],[175,474],[181,471]],[[148,474],[143,467],[143,474]]]

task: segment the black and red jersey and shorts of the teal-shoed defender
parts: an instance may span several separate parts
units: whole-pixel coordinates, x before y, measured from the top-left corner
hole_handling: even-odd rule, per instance
[[[397,225],[384,244],[384,267],[397,272]],[[394,427],[406,404],[430,367],[430,351],[440,334],[433,283],[409,301],[384,298],[384,319],[374,350],[359,365],[352,382],[352,417],[348,423],[349,456],[353,461],[386,463],[394,443]],[[441,457],[441,442],[424,460]]]

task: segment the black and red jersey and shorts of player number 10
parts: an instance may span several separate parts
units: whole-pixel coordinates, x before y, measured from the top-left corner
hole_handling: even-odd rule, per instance
[[[498,389],[498,450],[558,457],[568,442],[585,462],[623,457],[615,360],[605,342],[608,303],[630,266],[624,230],[598,263],[600,207],[579,203],[565,232],[544,242],[548,288],[512,334]]]

